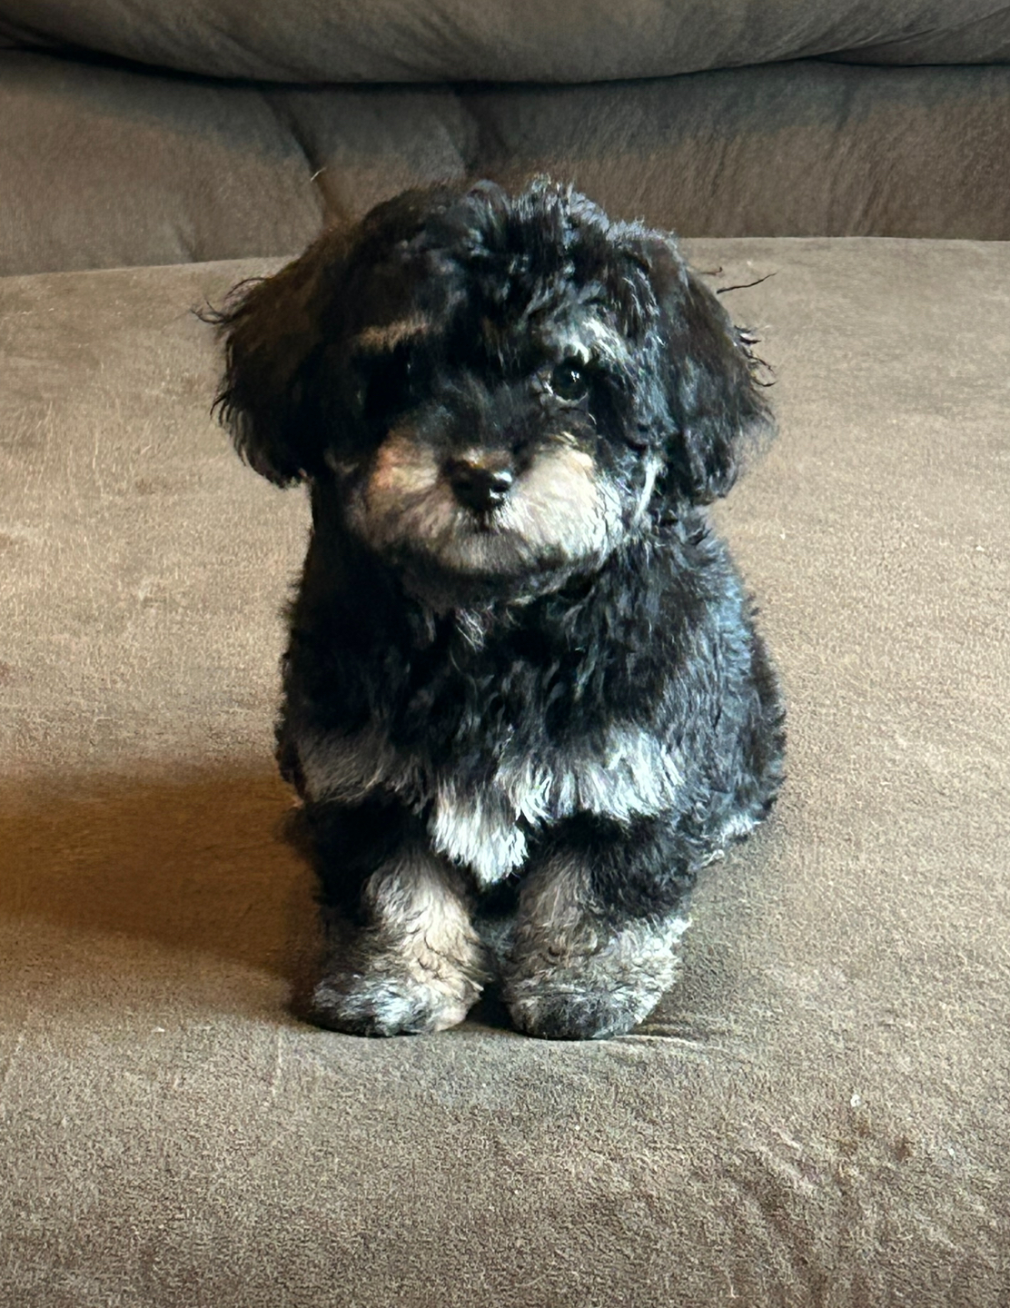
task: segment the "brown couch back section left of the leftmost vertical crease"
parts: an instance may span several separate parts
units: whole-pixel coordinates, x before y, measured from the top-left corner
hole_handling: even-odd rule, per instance
[[[255,89],[0,51],[0,272],[294,251],[309,174]]]

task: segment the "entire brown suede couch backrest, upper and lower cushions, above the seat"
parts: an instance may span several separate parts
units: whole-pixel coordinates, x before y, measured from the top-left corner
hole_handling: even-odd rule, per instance
[[[0,0],[0,273],[293,254],[408,186],[536,171],[688,235],[1010,239],[1007,5],[461,4]],[[920,65],[809,58],[882,42]]]

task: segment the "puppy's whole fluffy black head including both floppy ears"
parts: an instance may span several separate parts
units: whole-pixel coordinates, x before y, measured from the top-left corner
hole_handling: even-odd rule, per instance
[[[747,340],[672,237],[540,181],[407,192],[221,315],[222,419],[441,594],[535,593],[733,484]]]

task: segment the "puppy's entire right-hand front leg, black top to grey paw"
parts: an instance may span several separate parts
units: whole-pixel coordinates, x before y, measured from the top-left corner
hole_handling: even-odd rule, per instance
[[[655,867],[665,852],[676,866],[658,824],[637,838],[606,825],[552,841],[523,883],[504,997],[531,1036],[623,1035],[675,980],[692,878]]]

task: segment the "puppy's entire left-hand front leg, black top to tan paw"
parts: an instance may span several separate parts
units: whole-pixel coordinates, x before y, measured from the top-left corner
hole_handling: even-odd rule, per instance
[[[358,825],[353,818],[345,814],[338,824],[349,837]],[[358,866],[364,850],[353,840],[345,849],[334,844],[326,841],[328,867],[321,869],[327,952],[309,998],[310,1020],[368,1036],[420,1035],[462,1022],[487,978],[462,874],[416,832],[382,849],[370,869]]]

